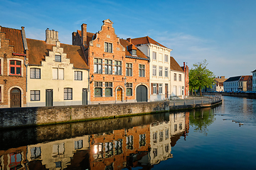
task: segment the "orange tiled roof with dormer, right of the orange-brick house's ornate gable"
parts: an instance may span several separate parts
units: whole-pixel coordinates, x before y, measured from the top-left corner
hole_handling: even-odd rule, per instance
[[[126,57],[134,57],[134,58],[138,58],[138,59],[144,59],[144,60],[149,60],[149,57],[146,57],[146,55],[144,55],[144,53],[139,50],[137,47],[135,47],[131,42],[124,40],[124,39],[119,39],[121,45],[125,48],[125,56]],[[137,56],[132,55],[129,51],[128,51],[128,46],[132,47],[133,50],[137,50]]]

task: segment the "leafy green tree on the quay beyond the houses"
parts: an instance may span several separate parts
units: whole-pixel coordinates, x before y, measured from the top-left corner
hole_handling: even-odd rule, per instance
[[[198,62],[196,64],[193,64],[193,69],[189,71],[189,87],[191,91],[193,89],[199,89],[200,96],[202,95],[202,87],[210,87],[214,83],[214,74],[213,72],[210,72],[209,69],[207,69],[208,63],[206,63],[206,60],[203,60],[203,62]]]

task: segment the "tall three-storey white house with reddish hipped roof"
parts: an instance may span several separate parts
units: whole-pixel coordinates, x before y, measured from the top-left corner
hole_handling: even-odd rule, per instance
[[[134,38],[132,43],[150,58],[150,101],[163,101],[171,96],[170,53],[171,49],[149,38]]]

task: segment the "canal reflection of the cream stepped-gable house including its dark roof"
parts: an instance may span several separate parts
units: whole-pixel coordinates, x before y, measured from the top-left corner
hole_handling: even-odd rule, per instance
[[[66,140],[28,145],[29,169],[66,169],[89,163],[88,135]],[[87,157],[87,159],[86,159]],[[83,165],[86,167],[86,165]]]

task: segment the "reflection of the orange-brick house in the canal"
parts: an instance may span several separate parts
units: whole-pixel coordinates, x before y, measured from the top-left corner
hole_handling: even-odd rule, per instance
[[[91,135],[90,169],[140,166],[149,147],[149,125]]]

